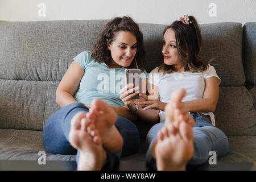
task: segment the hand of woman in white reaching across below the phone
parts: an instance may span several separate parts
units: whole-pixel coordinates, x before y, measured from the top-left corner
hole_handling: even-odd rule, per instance
[[[142,110],[151,108],[164,111],[164,107],[166,106],[167,103],[161,102],[159,100],[148,100],[148,96],[146,94],[139,94],[139,96],[146,100],[144,102],[138,102],[138,104],[144,105],[142,106]]]

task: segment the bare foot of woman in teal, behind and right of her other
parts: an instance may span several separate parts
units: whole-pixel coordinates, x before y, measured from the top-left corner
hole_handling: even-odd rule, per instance
[[[123,147],[123,138],[114,125],[117,119],[115,110],[105,101],[96,98],[86,115],[89,119],[94,119],[96,129],[102,138],[102,145],[112,153],[120,151]]]

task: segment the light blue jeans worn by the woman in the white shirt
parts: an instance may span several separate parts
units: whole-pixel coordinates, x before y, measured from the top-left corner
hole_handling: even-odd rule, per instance
[[[207,162],[210,151],[215,151],[217,156],[223,156],[228,152],[229,142],[226,135],[217,127],[213,126],[210,120],[201,113],[191,113],[195,119],[193,127],[194,155],[189,160],[188,165],[198,165]],[[164,126],[164,120],[152,126],[147,134],[147,154],[146,159],[150,167],[156,169],[156,161],[151,156],[151,146],[157,138],[157,133]],[[170,154],[171,155],[171,154]]]

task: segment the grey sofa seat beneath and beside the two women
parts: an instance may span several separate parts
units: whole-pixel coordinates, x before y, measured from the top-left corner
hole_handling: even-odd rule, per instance
[[[228,154],[217,162],[250,162],[256,164],[256,137],[230,136]],[[44,151],[42,131],[0,129],[0,160],[38,160],[39,151]],[[126,169],[137,163],[146,169],[146,139],[141,139],[139,151],[135,155],[121,159],[120,166]],[[46,160],[75,161],[75,155],[53,155],[46,153]]]

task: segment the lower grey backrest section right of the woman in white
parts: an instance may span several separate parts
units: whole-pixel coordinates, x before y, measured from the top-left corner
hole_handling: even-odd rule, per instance
[[[214,112],[216,126],[227,136],[256,135],[253,97],[245,86],[222,86]]]

